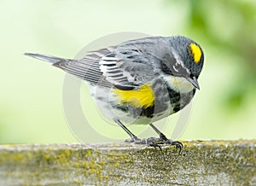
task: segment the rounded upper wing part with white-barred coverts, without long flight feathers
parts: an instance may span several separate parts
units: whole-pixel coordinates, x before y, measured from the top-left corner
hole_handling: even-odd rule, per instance
[[[137,46],[118,47],[99,61],[102,75],[119,89],[132,88],[156,77],[154,61]]]

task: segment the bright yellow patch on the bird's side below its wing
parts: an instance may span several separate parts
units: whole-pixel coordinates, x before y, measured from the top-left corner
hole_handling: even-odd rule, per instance
[[[138,90],[112,90],[119,98],[121,104],[128,103],[136,108],[148,108],[154,105],[154,92],[148,84]]]

